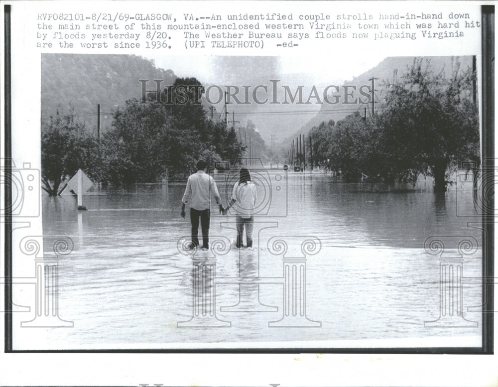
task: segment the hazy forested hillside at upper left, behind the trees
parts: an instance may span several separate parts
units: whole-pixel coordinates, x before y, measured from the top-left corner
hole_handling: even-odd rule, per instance
[[[176,79],[172,70],[157,69],[153,61],[135,55],[43,54],[41,59],[41,118],[57,111],[97,126],[97,105],[101,106],[101,127],[111,126],[111,114],[126,100],[141,96],[140,79],[162,79],[162,86]]]

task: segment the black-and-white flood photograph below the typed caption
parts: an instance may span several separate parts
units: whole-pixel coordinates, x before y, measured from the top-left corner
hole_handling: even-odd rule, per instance
[[[295,61],[42,56],[51,348],[481,345],[475,58]]]

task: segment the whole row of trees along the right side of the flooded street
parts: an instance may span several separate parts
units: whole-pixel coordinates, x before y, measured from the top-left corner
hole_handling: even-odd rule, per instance
[[[385,85],[378,113],[369,118],[356,113],[313,127],[307,164],[340,171],[345,181],[358,181],[363,174],[373,181],[415,183],[420,175],[431,176],[434,190],[446,191],[459,163],[479,165],[475,76],[458,61],[446,76],[415,59],[406,74]]]

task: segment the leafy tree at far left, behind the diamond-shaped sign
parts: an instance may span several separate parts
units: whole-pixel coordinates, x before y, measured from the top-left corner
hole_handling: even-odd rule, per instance
[[[42,122],[41,175],[42,188],[50,196],[60,194],[61,183],[73,176],[79,168],[90,178],[98,178],[98,139],[87,132],[85,124],[77,122],[74,112],[68,116],[59,113]]]

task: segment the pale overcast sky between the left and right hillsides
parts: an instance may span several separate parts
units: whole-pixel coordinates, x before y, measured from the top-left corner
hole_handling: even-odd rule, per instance
[[[269,80],[276,79],[281,80],[282,85],[290,85],[291,90],[295,90],[297,85],[303,85],[306,94],[312,86],[324,90],[325,85],[344,85],[375,67],[384,56],[349,52],[346,57],[324,53],[313,56],[155,56],[148,59],[154,59],[156,67],[173,70],[178,77],[195,77],[203,85],[254,87],[257,84],[268,85]],[[251,104],[230,106],[227,111],[229,114],[237,114],[235,120],[241,126],[245,126],[250,119],[263,139],[270,141],[270,135],[276,135],[280,139],[292,134],[312,119],[321,107],[319,104],[306,105],[305,108],[297,104],[278,107]],[[303,109],[309,112],[269,114],[272,111],[291,112]],[[223,102],[219,104],[217,111],[221,114]]]

